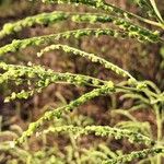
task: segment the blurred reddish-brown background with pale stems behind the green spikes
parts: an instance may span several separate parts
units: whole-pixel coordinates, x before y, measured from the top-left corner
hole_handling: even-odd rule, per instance
[[[134,0],[108,0],[117,7],[133,13],[144,15],[143,11],[134,3]],[[157,5],[164,16],[164,1],[159,0]],[[42,12],[50,11],[69,11],[69,12],[95,12],[96,10],[86,8],[84,5],[48,5],[39,2],[28,2],[24,0],[0,0],[0,28],[5,23],[14,22],[23,17],[35,15]],[[0,42],[0,46],[11,43],[13,39],[21,39],[68,30],[84,28],[84,27],[108,27],[110,24],[86,24],[72,23],[71,21],[58,22],[55,24],[37,25],[31,28],[24,28],[17,34],[5,37]],[[152,28],[151,26],[148,26]],[[162,91],[164,90],[164,46],[161,44],[143,44],[134,39],[118,39],[108,36],[101,36],[99,38],[83,37],[79,40],[70,38],[69,40],[60,40],[67,45],[80,48],[87,52],[98,54],[103,58],[118,65],[125,70],[128,70],[138,80],[151,80]],[[104,80],[120,81],[113,72],[105,70],[98,65],[90,61],[66,55],[61,51],[48,52],[43,58],[38,59],[36,52],[40,47],[31,47],[21,50],[14,55],[5,55],[1,60],[7,63],[27,65],[28,61],[35,65],[43,65],[57,72],[72,72],[87,74]],[[47,106],[58,107],[75,99],[83,93],[90,91],[89,87],[75,87],[73,85],[52,84],[44,90],[43,93],[35,95],[27,101],[14,101],[11,103],[3,103],[3,99],[12,87],[7,85],[0,86],[0,131],[13,131],[20,134],[25,130],[30,122],[38,119],[47,109]],[[114,108],[130,108],[134,102],[132,99],[121,99],[120,95],[110,95],[95,98],[94,101],[81,106],[77,112],[66,116],[63,120],[52,121],[54,125],[109,125],[117,126],[120,120],[127,120],[125,116],[116,116],[110,113]],[[142,108],[138,113],[132,114],[139,121],[143,122],[145,129],[151,126],[155,129],[154,115]],[[148,124],[150,122],[150,124]],[[139,127],[141,126],[139,125]],[[118,125],[119,126],[119,125]],[[155,131],[155,130],[154,130]],[[0,142],[11,140],[14,136],[2,134]],[[71,134],[68,136],[42,136],[39,138],[32,137],[28,143],[25,143],[26,150],[32,156],[34,163],[80,163],[81,152],[84,152],[85,159],[89,159],[87,153],[97,151],[122,153],[129,150],[140,150],[139,145],[131,145],[126,140],[115,141],[113,138],[95,138],[93,136],[82,137],[81,139],[73,139]],[[108,152],[109,153],[109,152]],[[96,156],[96,154],[93,154]],[[102,157],[102,156],[101,156]],[[84,159],[84,157],[83,157]],[[82,161],[82,160],[81,160]],[[83,160],[84,161],[84,160]],[[0,163],[27,163],[16,154],[11,152],[0,152]],[[32,163],[32,161],[30,162]],[[81,162],[82,163],[82,162]],[[84,161],[84,163],[86,163]],[[89,162],[90,163],[90,162]],[[92,163],[92,162],[91,162]],[[94,161],[96,163],[96,161]]]

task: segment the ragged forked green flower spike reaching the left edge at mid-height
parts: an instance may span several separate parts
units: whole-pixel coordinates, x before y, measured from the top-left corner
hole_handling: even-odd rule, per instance
[[[16,85],[23,85],[26,83],[30,90],[22,90],[20,93],[13,92],[11,96],[5,98],[5,102],[11,99],[13,101],[15,98],[28,98],[35,93],[42,92],[43,89],[47,87],[51,83],[66,82],[74,85],[89,85],[94,87],[99,87],[107,83],[107,81],[89,75],[54,72],[52,70],[46,70],[40,66],[25,67],[0,62],[0,69],[5,71],[4,73],[0,74],[0,84],[11,83],[12,81]],[[35,85],[33,86],[34,83]]]

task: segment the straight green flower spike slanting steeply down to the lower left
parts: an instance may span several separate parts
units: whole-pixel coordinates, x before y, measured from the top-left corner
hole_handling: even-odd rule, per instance
[[[108,82],[106,85],[103,85],[99,89],[95,89],[86,94],[83,94],[75,101],[70,102],[68,105],[59,107],[57,109],[52,109],[46,112],[44,116],[42,116],[37,121],[30,124],[30,127],[23,134],[15,140],[15,144],[22,144],[25,139],[31,137],[46,120],[51,120],[54,118],[60,118],[63,113],[71,112],[75,107],[93,99],[94,97],[108,94],[110,92],[115,92],[114,83]]]

